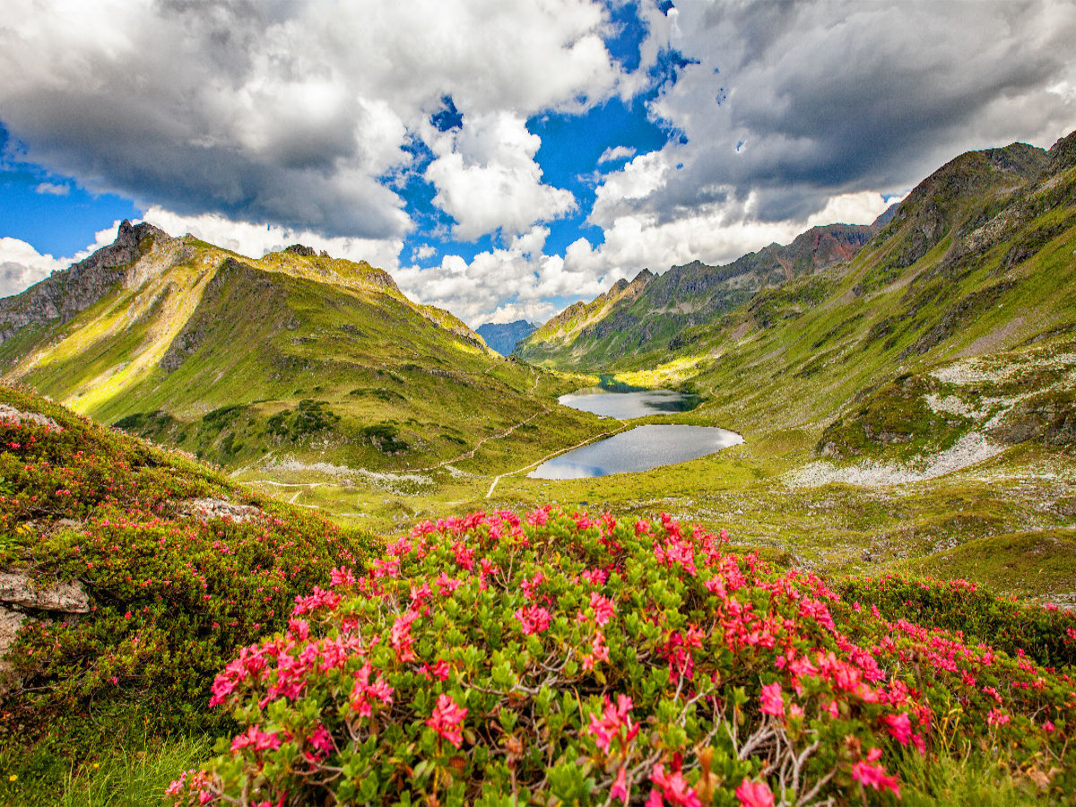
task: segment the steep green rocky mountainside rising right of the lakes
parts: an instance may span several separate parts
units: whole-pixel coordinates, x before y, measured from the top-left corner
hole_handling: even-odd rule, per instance
[[[1074,142],[957,157],[852,260],[680,334],[666,382],[746,433],[797,429],[834,467],[1076,444]]]

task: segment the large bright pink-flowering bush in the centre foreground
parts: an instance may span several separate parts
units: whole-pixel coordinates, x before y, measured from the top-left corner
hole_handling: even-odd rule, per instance
[[[473,513],[334,583],[217,676],[212,703],[244,730],[172,784],[176,805],[886,802],[954,696],[971,734],[1033,737],[1021,764],[1057,763],[1068,736],[1067,679],[1004,657],[989,680],[1009,722],[988,723],[980,682],[929,685],[921,655],[959,670],[988,651],[861,619],[667,516]]]

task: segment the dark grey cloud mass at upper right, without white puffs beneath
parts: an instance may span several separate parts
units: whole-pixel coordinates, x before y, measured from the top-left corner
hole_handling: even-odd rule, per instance
[[[661,217],[726,195],[753,196],[762,221],[803,218],[1076,124],[1057,91],[1076,63],[1070,3],[691,3],[678,26],[698,63],[651,105],[688,140],[663,150],[682,168],[642,206]]]

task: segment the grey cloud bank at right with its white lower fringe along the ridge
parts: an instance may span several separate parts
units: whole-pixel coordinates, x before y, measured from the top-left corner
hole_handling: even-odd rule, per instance
[[[601,178],[587,222],[604,241],[565,254],[594,273],[727,263],[810,226],[868,224],[963,151],[1048,146],[1076,125],[1067,3],[646,13],[640,74],[674,48],[697,62],[650,101],[684,137]]]

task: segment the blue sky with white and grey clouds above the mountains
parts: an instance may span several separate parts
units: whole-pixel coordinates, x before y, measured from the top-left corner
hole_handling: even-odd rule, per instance
[[[1076,128],[1070,0],[0,0],[0,295],[124,218],[472,327]]]

